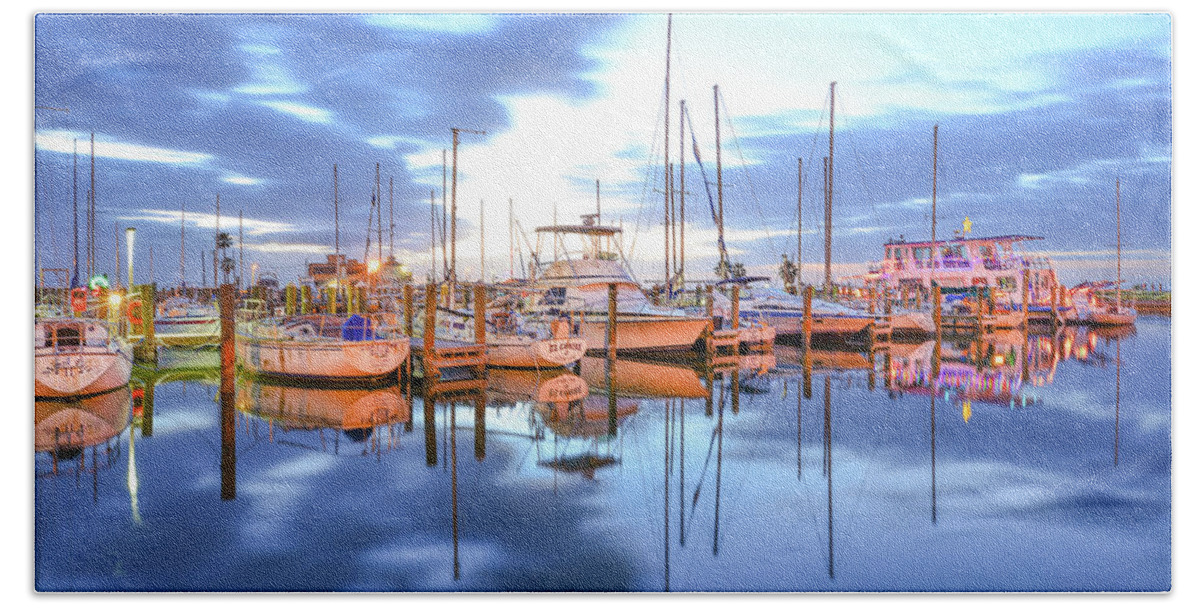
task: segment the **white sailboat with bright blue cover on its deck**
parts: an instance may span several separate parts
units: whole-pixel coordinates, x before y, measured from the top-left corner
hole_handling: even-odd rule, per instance
[[[245,311],[238,363],[263,375],[308,381],[370,381],[396,375],[408,338],[377,315],[305,314],[264,318]]]

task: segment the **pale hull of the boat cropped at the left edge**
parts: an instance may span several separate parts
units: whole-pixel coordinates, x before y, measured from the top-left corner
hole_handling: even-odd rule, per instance
[[[130,383],[133,353],[83,347],[67,353],[34,350],[34,398],[82,397],[110,391]]]

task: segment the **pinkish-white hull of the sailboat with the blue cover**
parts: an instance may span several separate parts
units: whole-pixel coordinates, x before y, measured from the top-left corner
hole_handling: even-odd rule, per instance
[[[238,337],[238,363],[264,375],[312,380],[367,380],[396,373],[408,338],[376,341],[259,339]]]

